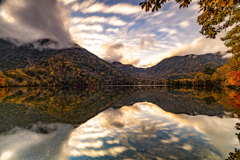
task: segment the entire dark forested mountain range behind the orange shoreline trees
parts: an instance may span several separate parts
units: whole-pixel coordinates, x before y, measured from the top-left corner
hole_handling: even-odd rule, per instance
[[[77,44],[67,49],[51,49],[52,47],[56,47],[58,43],[49,39],[41,39],[23,45],[15,44],[20,43],[15,39],[0,39],[0,70],[41,68],[38,64],[42,61],[60,56],[65,61],[73,63],[74,66],[76,65],[72,68],[73,70],[74,68],[79,68],[86,75],[98,81],[98,84],[131,84],[129,83],[130,81],[136,82],[136,79],[144,78],[194,78],[205,67],[216,69],[227,61],[220,53],[192,54],[166,58],[150,68],[137,68],[133,65],[124,65],[120,62],[110,64]],[[56,59],[52,60],[56,61]],[[46,69],[53,66],[43,67]],[[59,74],[58,76],[60,76]]]

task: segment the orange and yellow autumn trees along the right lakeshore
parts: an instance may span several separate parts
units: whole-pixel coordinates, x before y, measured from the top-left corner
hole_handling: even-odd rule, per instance
[[[194,79],[168,80],[166,84],[175,86],[192,85],[193,87],[217,88],[225,87],[240,89],[240,61],[230,58],[226,64],[216,70],[205,67],[201,73],[197,73]],[[192,84],[191,84],[192,83]]]

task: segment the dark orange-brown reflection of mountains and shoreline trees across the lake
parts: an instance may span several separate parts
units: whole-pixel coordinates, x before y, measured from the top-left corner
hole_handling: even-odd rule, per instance
[[[78,126],[107,108],[145,101],[176,114],[240,117],[228,93],[162,86],[0,88],[0,132],[39,121]]]

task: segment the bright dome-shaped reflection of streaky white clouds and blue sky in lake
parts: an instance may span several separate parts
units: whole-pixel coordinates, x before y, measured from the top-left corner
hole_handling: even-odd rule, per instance
[[[223,159],[238,144],[237,122],[136,103],[110,108],[76,128],[64,152],[70,159]]]

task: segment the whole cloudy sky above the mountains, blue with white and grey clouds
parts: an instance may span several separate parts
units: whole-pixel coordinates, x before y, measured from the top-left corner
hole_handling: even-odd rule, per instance
[[[196,23],[197,1],[179,9],[167,2],[145,12],[143,0],[5,0],[0,1],[0,37],[30,42],[52,38],[61,48],[77,43],[100,58],[137,67],[187,54],[226,51],[220,40],[207,39]]]

